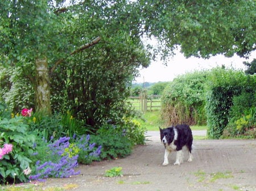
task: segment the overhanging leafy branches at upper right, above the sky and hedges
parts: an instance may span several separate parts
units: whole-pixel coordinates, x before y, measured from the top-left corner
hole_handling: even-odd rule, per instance
[[[177,45],[186,57],[246,57],[255,50],[255,1],[142,0],[136,8],[142,33],[156,37],[162,57]]]

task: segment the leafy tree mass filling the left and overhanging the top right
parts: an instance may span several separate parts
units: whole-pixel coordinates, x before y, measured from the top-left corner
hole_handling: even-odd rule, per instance
[[[92,125],[108,113],[122,118],[114,111],[123,111],[124,89],[150,57],[177,46],[186,57],[247,57],[256,39],[253,0],[6,0],[0,23],[2,99],[74,109]],[[145,36],[159,46],[144,47]]]

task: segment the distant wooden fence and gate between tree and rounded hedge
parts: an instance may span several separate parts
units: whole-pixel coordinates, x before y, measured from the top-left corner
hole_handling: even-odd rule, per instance
[[[129,97],[129,103],[142,112],[159,110],[161,108],[160,97],[160,95],[141,94],[138,97]]]

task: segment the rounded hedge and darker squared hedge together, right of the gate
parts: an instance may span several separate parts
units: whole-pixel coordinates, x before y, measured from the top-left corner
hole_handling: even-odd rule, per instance
[[[205,124],[210,138],[255,137],[256,76],[217,67],[177,77],[164,90],[168,125]]]

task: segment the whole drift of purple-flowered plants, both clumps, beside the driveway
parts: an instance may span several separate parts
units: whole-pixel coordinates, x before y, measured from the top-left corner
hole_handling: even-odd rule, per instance
[[[89,137],[89,135],[87,135]],[[37,151],[34,155],[39,159],[35,163],[33,175],[30,180],[43,180],[48,177],[69,177],[78,175],[80,171],[75,172],[78,166],[78,159],[87,163],[92,159],[96,159],[100,154],[101,147],[93,151],[92,145],[84,145],[84,138],[76,139],[76,142],[70,143],[69,137],[61,137],[53,141],[53,137],[49,142],[43,141],[41,146],[37,146]],[[88,138],[89,141],[89,138]],[[47,144],[47,146],[46,146]],[[82,160],[82,157],[88,158]]]

